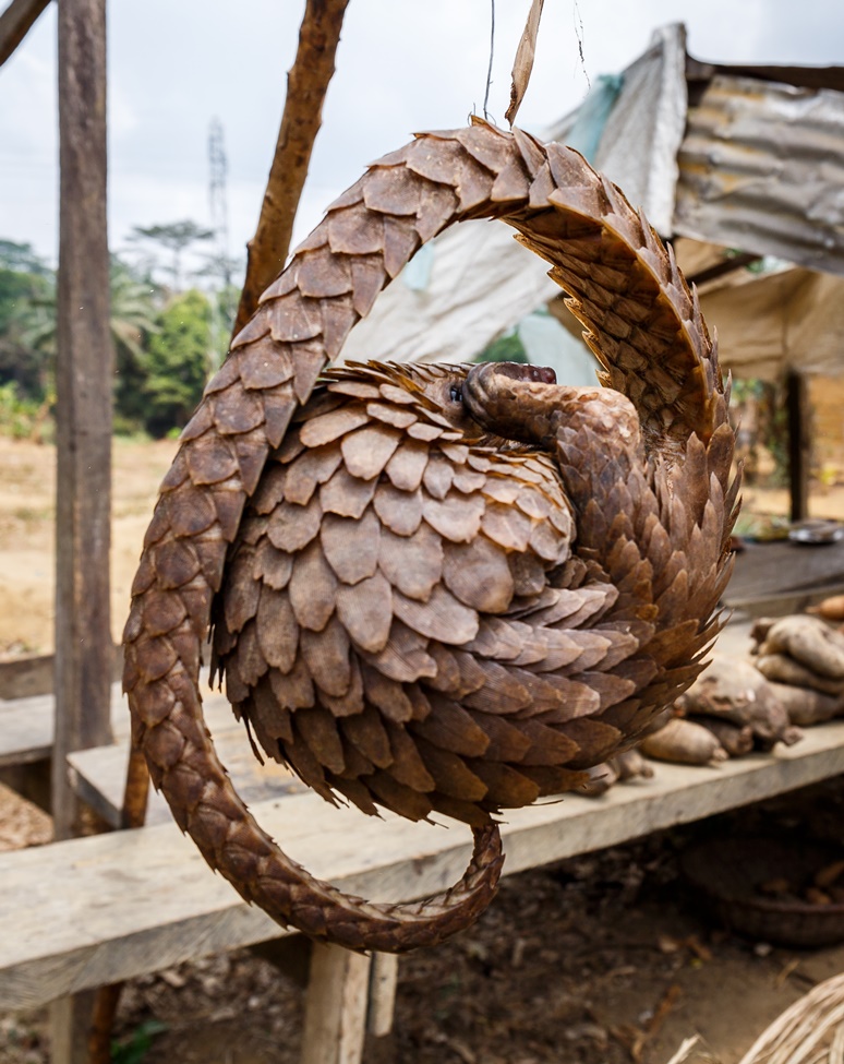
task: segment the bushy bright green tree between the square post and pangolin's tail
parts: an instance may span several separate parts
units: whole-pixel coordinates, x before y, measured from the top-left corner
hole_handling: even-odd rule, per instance
[[[144,357],[144,420],[152,435],[182,428],[202,398],[210,368],[210,303],[196,289],[174,297],[159,315]]]

